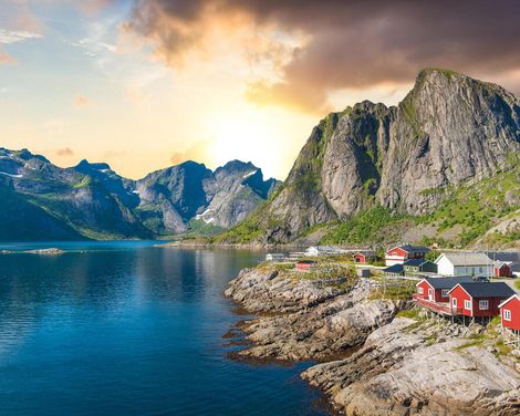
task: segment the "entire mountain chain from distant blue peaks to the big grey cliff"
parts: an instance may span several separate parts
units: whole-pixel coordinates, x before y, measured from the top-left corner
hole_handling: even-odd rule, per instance
[[[518,246],[519,150],[520,98],[426,69],[396,106],[364,101],[320,121],[283,184],[239,160],[132,180],[0,148],[0,239]]]

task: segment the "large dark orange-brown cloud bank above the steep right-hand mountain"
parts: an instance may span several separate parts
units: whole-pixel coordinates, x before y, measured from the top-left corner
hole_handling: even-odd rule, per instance
[[[284,35],[305,39],[273,64],[278,80],[259,71],[247,95],[262,105],[322,111],[334,91],[395,87],[426,66],[513,80],[507,86],[518,92],[520,80],[509,74],[520,69],[519,15],[516,0],[143,0],[126,29],[153,41],[170,65],[194,50],[222,53],[211,50],[216,35],[245,25],[268,30],[272,50]]]

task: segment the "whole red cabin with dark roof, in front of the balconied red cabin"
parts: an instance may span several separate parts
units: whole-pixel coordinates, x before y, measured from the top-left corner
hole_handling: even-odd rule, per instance
[[[496,316],[500,314],[499,304],[514,294],[503,282],[459,283],[449,292],[451,309],[465,316]]]

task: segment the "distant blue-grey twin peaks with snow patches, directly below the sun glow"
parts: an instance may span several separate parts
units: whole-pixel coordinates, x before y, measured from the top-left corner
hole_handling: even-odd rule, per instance
[[[156,233],[180,233],[190,220],[229,228],[243,220],[274,189],[251,163],[232,160],[214,171],[201,164],[157,170],[135,183],[137,210]]]

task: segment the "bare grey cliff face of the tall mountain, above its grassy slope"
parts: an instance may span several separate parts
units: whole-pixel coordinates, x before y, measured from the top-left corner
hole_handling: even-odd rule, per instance
[[[314,127],[260,223],[264,242],[381,205],[412,215],[492,176],[520,150],[520,100],[502,87],[424,70],[398,106],[362,102]],[[272,226],[278,220],[278,226]]]

